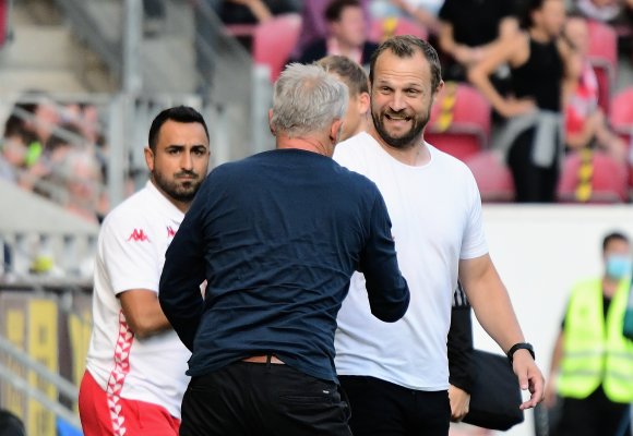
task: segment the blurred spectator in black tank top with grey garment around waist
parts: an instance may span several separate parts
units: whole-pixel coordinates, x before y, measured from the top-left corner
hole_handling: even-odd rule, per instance
[[[468,78],[509,121],[497,146],[506,153],[517,202],[556,201],[562,145],[562,81],[569,48],[559,35],[565,20],[563,0],[528,0],[523,32],[500,39],[473,65]],[[507,63],[513,97],[504,98],[490,75]]]

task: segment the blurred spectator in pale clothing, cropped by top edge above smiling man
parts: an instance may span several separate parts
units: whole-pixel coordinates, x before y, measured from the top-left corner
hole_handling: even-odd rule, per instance
[[[373,0],[369,8],[372,19],[408,17],[431,33],[439,32],[438,13],[444,0]]]

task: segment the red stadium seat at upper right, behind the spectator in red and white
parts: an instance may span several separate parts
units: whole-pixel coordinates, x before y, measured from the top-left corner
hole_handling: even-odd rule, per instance
[[[618,34],[604,23],[589,21],[589,62],[598,78],[598,104],[609,113],[611,88],[618,68]]]

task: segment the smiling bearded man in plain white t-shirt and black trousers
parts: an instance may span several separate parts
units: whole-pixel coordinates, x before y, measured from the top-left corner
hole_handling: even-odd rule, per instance
[[[392,219],[411,300],[405,316],[369,316],[365,278],[355,274],[338,313],[336,372],[349,397],[355,436],[449,432],[446,336],[457,278],[486,331],[513,361],[522,389],[542,400],[544,377],[525,343],[507,291],[488,254],[473,174],[423,140],[443,86],[435,50],[411,36],[383,43],[371,60],[373,122],[341,143],[334,159],[372,180]]]

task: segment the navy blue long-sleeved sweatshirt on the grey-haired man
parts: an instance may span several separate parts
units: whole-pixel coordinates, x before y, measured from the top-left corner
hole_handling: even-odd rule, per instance
[[[272,353],[336,382],[336,314],[354,270],[374,316],[404,315],[409,291],[378,187],[329,157],[277,149],[210,173],[167,250],[159,301],[193,352],[191,376]]]

